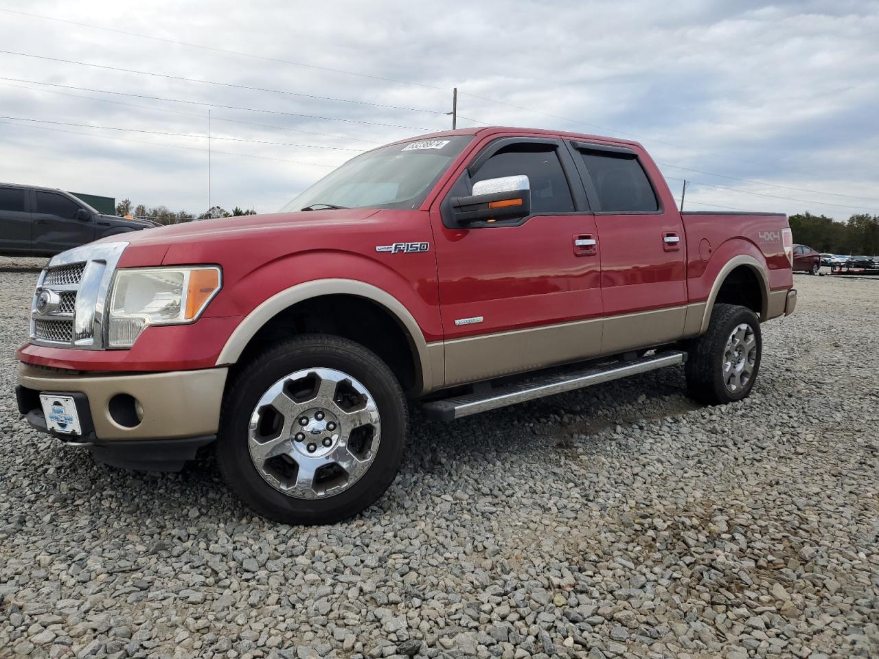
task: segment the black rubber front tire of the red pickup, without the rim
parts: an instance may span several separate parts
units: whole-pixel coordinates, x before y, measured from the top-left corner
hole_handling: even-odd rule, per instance
[[[302,499],[275,489],[258,472],[249,449],[251,414],[261,396],[290,373],[336,369],[360,380],[381,416],[381,442],[360,480],[334,496]],[[388,366],[360,344],[328,335],[303,335],[252,358],[223,399],[217,462],[226,481],[253,511],[291,525],[332,524],[365,510],[394,481],[403,459],[409,409]]]

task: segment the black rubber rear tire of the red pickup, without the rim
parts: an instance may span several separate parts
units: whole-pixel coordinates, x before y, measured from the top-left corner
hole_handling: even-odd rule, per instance
[[[751,373],[744,384],[730,390],[724,375],[725,354],[730,335],[739,325],[745,324],[752,331],[756,342],[756,356]],[[750,350],[748,351],[751,352]],[[708,331],[694,340],[686,360],[686,388],[694,400],[707,405],[723,405],[741,401],[751,393],[760,367],[763,339],[757,315],[746,307],[734,304],[716,304],[711,312]],[[747,359],[747,355],[745,355]]]

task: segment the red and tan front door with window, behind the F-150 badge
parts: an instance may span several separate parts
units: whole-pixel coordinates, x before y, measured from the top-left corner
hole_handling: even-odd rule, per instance
[[[451,198],[471,194],[478,181],[519,175],[529,179],[530,215],[472,227],[450,221]],[[431,218],[447,386],[599,351],[595,218],[561,141],[490,141]]]

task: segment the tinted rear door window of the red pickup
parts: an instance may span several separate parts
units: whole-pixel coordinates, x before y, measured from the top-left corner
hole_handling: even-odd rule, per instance
[[[656,193],[635,154],[580,151],[602,213],[653,213]]]

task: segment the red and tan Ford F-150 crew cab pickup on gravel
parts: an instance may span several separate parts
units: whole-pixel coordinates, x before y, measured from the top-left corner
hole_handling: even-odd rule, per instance
[[[795,307],[781,214],[679,213],[641,145],[522,128],[398,141],[289,212],[54,257],[18,407],[106,463],[215,442],[254,510],[327,523],[393,481],[409,406],[452,420],[685,363],[749,394],[760,322]]]

